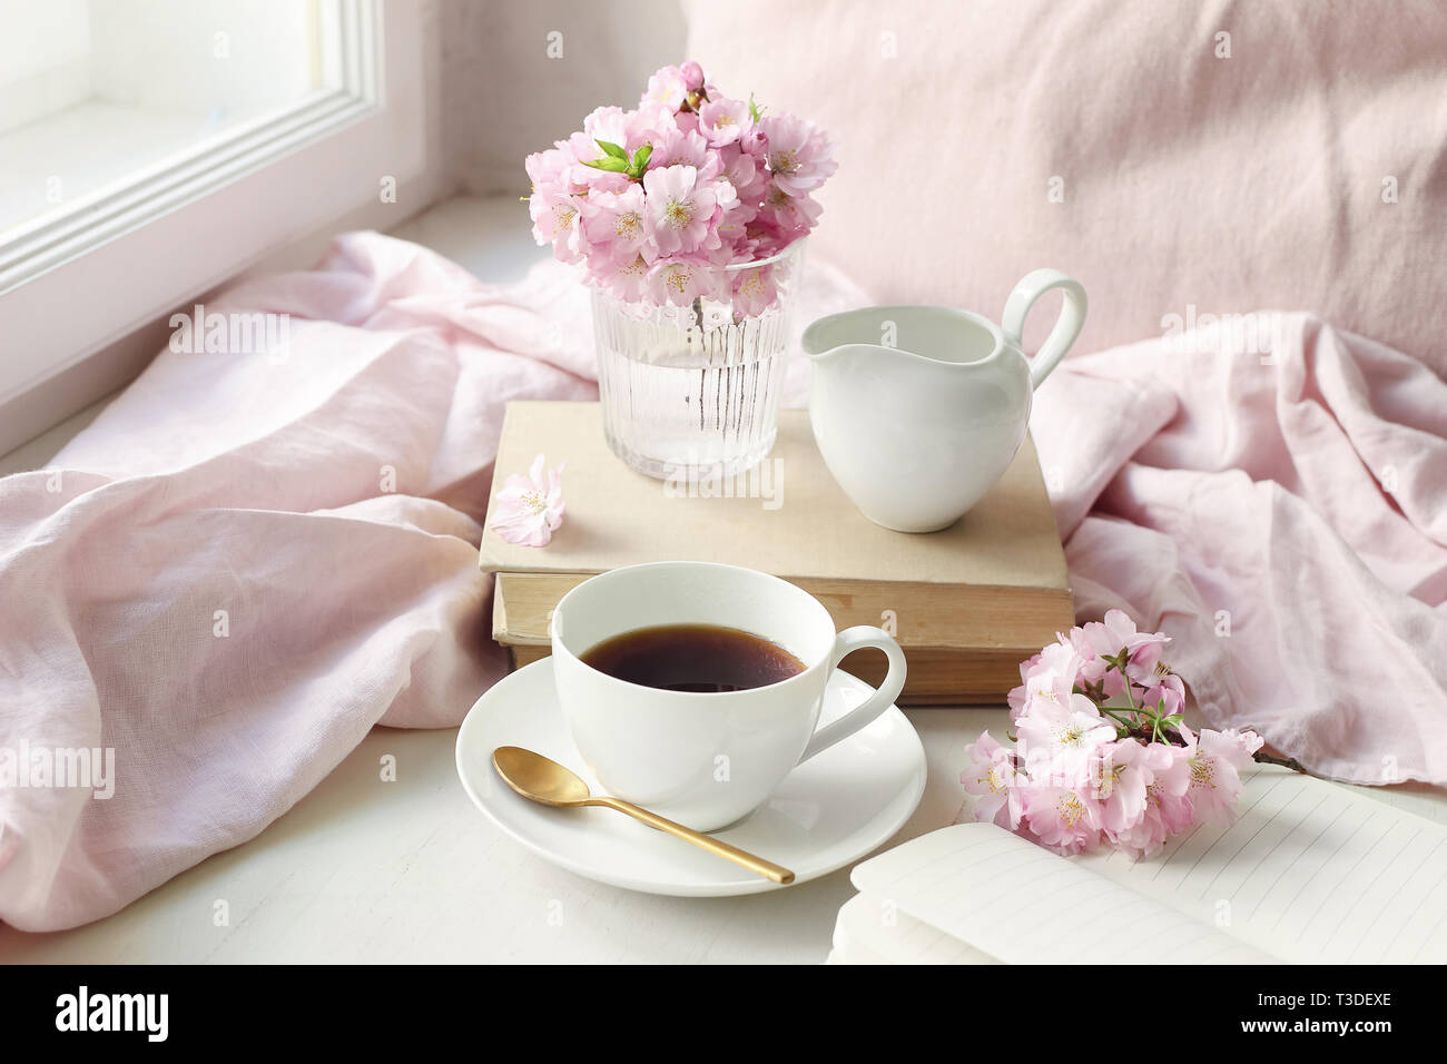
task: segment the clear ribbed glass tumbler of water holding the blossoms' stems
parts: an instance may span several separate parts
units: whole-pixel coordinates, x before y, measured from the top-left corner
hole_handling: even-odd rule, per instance
[[[651,307],[593,288],[603,434],[618,457],[661,481],[706,482],[768,455],[803,243],[722,266],[732,301]]]

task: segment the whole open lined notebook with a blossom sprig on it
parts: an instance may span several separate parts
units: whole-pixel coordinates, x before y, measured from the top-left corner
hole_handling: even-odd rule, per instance
[[[958,824],[851,879],[836,964],[1447,963],[1447,827],[1279,769],[1149,860]]]

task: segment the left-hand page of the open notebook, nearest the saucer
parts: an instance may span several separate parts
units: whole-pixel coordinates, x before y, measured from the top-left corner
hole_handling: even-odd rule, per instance
[[[956,824],[858,866],[860,892],[1006,964],[1250,964],[1270,958],[994,824]],[[928,931],[925,932],[928,935]],[[951,948],[938,940],[929,951]]]

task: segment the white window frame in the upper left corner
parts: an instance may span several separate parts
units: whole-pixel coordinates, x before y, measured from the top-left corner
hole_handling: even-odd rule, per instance
[[[336,10],[337,88],[243,123],[0,245],[0,453],[123,384],[117,373],[136,372],[87,369],[97,352],[268,253],[382,203],[383,182],[401,188],[423,174],[423,23],[431,6],[336,0]],[[46,387],[62,379],[65,388]]]

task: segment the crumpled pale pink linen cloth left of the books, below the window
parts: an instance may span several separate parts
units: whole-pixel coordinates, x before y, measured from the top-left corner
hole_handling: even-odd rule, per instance
[[[864,303],[806,278],[799,329]],[[165,350],[48,469],[0,479],[0,757],[114,751],[109,799],[0,785],[22,929],[252,838],[375,724],[460,722],[505,669],[476,553],[504,405],[598,395],[586,290],[551,261],[493,287],[353,233],[205,310],[289,314],[287,343]]]

